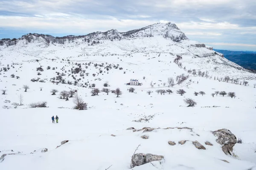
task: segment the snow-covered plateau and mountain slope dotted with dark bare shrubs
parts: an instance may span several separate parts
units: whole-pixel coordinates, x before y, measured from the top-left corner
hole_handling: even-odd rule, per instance
[[[256,170],[255,85],[174,23],[2,39],[0,170]]]

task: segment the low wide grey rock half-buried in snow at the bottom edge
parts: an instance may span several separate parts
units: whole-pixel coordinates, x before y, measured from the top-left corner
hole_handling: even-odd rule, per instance
[[[164,159],[164,156],[153,155],[151,153],[135,153],[131,158],[131,168],[140,166],[152,161],[161,161]]]

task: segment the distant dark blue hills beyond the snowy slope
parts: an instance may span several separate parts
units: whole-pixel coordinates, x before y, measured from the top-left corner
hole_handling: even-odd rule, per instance
[[[214,51],[224,54],[225,58],[241,65],[243,68],[256,70],[256,51],[228,51],[217,49],[214,49]]]

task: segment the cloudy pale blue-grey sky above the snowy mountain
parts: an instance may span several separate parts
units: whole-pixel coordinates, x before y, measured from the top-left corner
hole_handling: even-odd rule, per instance
[[[256,0],[0,0],[0,39],[84,35],[174,22],[216,49],[256,51]]]

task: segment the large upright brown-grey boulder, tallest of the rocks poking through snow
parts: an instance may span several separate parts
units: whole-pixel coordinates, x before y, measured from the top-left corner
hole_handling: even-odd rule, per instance
[[[236,136],[227,129],[219,129],[212,132],[214,136],[217,136],[216,142],[222,145],[223,152],[227,154],[232,154],[233,146],[236,144]]]

